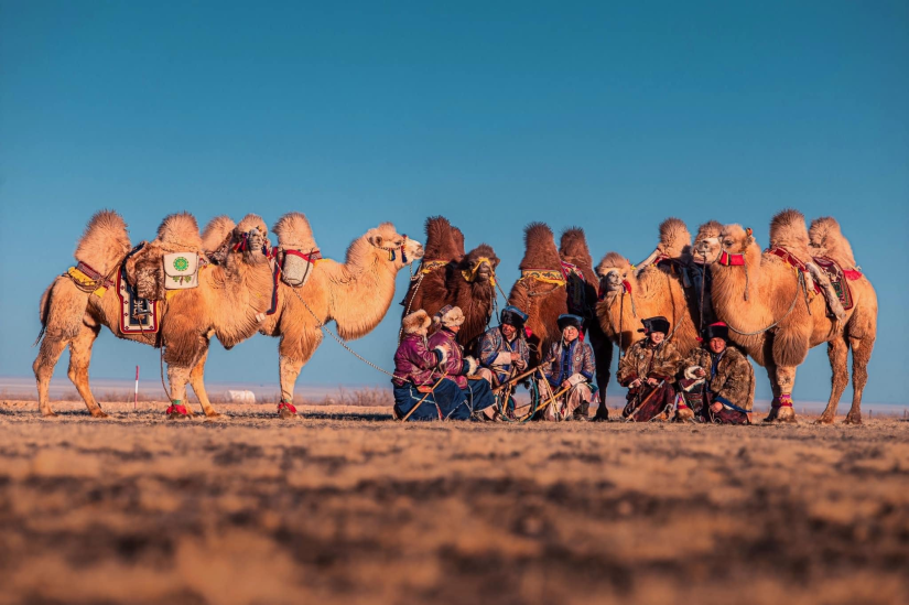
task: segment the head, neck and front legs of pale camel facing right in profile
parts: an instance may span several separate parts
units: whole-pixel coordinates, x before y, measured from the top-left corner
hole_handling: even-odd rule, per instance
[[[322,325],[334,320],[337,334],[344,339],[371,332],[391,305],[398,271],[422,257],[420,242],[404,238],[392,224],[383,223],[350,244],[344,263],[331,259],[315,261],[305,288],[279,283],[278,312],[266,317],[260,332],[281,337],[278,350],[282,403],[292,404],[296,377],[322,343]],[[282,407],[282,417],[286,409]]]

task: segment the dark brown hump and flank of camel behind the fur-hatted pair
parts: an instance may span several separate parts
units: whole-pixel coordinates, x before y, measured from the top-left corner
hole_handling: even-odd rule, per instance
[[[447,281],[463,258],[464,236],[461,231],[443,216],[429,217],[425,253],[401,301],[401,317],[419,309],[432,317],[440,309],[452,304]]]

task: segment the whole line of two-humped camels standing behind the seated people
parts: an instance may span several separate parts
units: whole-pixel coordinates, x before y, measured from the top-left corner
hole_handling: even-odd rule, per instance
[[[116,212],[97,213],[77,246],[78,264],[57,277],[41,299],[41,348],[33,366],[41,413],[55,415],[50,379],[68,347],[69,379],[91,415],[106,415],[88,383],[91,346],[101,326],[162,349],[171,415],[192,415],[182,403],[187,382],[204,413],[218,415],[203,380],[213,336],[228,349],[256,333],[280,337],[281,396],[292,402],[296,378],[322,342],[323,325],[334,321],[344,339],[368,334],[391,305],[398,271],[418,260],[403,314],[423,309],[433,315],[446,304],[459,306],[466,321],[458,342],[466,347],[493,321],[501,291],[499,259],[487,244],[465,252],[464,235],[443,217],[426,220],[425,248],[385,223],[355,239],[343,263],[321,258],[300,213],[284,215],[273,231],[274,246],[261,217],[247,215],[238,224],[217,217],[199,233],[195,218],[181,213],[164,219],[154,240],[132,247]],[[521,277],[507,303],[530,316],[531,365],[559,337],[560,314],[582,315],[600,401],[613,345],[627,350],[642,337],[641,320],[662,315],[672,325],[668,337],[683,356],[699,346],[701,326],[725,322],[733,342],[767,370],[773,391],[770,420],[794,420],[789,403],[796,370],[811,347],[826,343],[833,379],[820,421],[833,422],[852,352],[846,422],[862,421],[877,296],[835,219],[818,218],[809,229],[801,213],[783,210],[773,217],[769,247],[761,251],[750,229],[739,225],[708,222],[692,240],[685,224],[670,218],[660,225],[653,253],[637,267],[616,252],[594,267],[578,228],[565,230],[556,246],[552,230],[533,223],[524,230],[524,245]],[[198,258],[194,288],[170,289],[169,280],[178,278],[162,267],[162,258],[174,252]],[[148,301],[130,311],[128,304],[136,302],[125,296],[127,291]],[[127,325],[130,314],[126,318],[138,324]]]

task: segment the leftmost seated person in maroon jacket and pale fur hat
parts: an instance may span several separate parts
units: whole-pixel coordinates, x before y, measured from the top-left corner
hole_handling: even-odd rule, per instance
[[[469,419],[466,396],[454,380],[439,371],[447,361],[448,350],[428,346],[426,331],[431,323],[423,310],[401,320],[403,337],[394,353],[394,378],[391,379],[393,415],[408,420]]]

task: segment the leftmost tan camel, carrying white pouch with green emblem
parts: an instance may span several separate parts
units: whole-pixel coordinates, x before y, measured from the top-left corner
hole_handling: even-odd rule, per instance
[[[116,279],[130,252],[129,234],[117,213],[97,213],[76,248],[75,258],[79,264],[75,272],[56,278],[41,299],[43,338],[33,365],[41,413],[56,415],[51,409],[47,390],[54,366],[68,346],[69,379],[91,415],[107,415],[93,397],[88,383],[91,346],[105,325],[118,338],[163,346],[171,398],[175,404],[185,400],[188,381],[205,414],[217,415],[203,382],[209,338],[216,335],[226,348],[230,348],[258,329],[256,316],[266,311],[272,292],[271,271],[262,252],[262,244],[267,242],[263,237],[266,233],[261,218],[248,215],[240,225],[228,231],[219,247],[221,263],[199,269],[196,288],[169,291],[153,303],[159,307],[160,328],[156,334],[125,333],[120,324],[123,306],[116,289]],[[239,244],[245,246],[239,247]],[[137,278],[148,280],[160,269],[160,257],[154,255],[181,247],[188,249],[178,251],[198,251],[203,248],[196,220],[185,213],[165,218],[158,238],[137,251],[139,258],[133,263]],[[148,281],[137,285],[149,291],[158,290]]]

